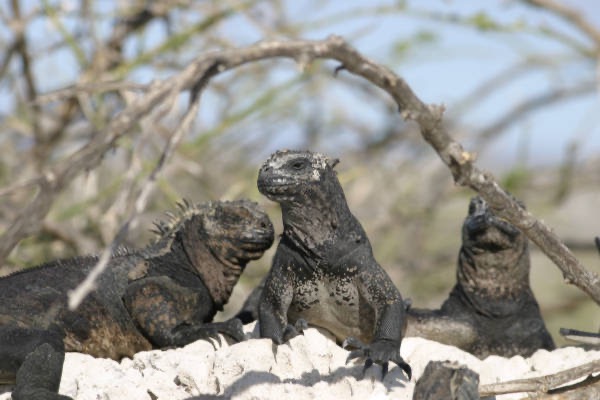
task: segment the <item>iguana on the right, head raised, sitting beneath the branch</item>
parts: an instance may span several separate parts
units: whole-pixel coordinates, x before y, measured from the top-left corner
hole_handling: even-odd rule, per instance
[[[407,336],[457,346],[480,358],[554,349],[529,285],[527,237],[474,197],[462,242],[448,299],[439,310],[409,309]]]

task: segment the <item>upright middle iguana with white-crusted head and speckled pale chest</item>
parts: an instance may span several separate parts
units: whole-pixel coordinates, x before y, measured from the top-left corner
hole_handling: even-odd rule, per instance
[[[278,151],[260,169],[258,190],[283,216],[259,301],[260,336],[281,344],[308,323],[353,348],[348,360],[382,364],[384,376],[393,361],[410,379],[400,356],[402,297],[348,208],[336,164],[320,153]]]

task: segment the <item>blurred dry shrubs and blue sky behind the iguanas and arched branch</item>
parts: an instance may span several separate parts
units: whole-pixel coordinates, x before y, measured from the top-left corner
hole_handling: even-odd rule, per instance
[[[93,1],[0,4],[0,235],[36,193],[29,184],[97,135],[136,85],[180,72],[195,57],[258,40],[343,36],[403,76],[479,165],[552,226],[599,272],[600,4],[535,1]],[[460,229],[472,192],[377,88],[316,62],[243,66],[213,79],[193,129],[161,171],[126,244],[143,246],[152,221],[181,198],[249,197],[281,231],[276,204],[256,189],[279,148],[341,159],[351,209],[405,297],[437,307],[454,284]],[[74,90],[77,88],[77,90]],[[59,91],[59,92],[56,92]],[[154,168],[187,98],[141,118],[103,162],[81,171],[41,229],[21,240],[3,274],[95,253],[126,219],[123,200]],[[126,203],[126,202],[125,202]],[[1,240],[1,239],[0,239]],[[225,316],[265,273],[251,264]],[[597,331],[597,305],[563,283],[532,248],[532,286],[552,333]],[[563,343],[559,339],[559,343]]]

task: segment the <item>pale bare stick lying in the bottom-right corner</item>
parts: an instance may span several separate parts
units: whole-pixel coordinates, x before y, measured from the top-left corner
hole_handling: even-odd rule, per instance
[[[539,376],[535,378],[517,379],[509,382],[493,383],[479,386],[481,397],[495,396],[506,393],[550,393],[553,389],[566,383],[582,379],[600,371],[600,360],[579,365],[552,375]],[[597,381],[592,379],[592,383]],[[589,382],[588,382],[589,383]]]

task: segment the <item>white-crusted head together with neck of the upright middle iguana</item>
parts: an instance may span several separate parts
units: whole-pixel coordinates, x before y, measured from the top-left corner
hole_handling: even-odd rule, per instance
[[[281,205],[283,237],[313,258],[370,246],[348,208],[337,163],[321,153],[277,151],[258,173],[258,190]]]

